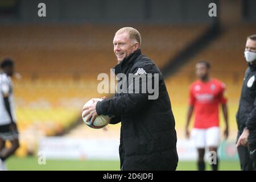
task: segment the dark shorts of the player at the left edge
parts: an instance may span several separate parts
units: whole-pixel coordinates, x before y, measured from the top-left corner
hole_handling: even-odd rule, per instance
[[[15,129],[11,130],[11,124],[8,125],[0,125],[0,138],[2,140],[14,140],[18,139],[18,129],[16,123],[14,123]]]

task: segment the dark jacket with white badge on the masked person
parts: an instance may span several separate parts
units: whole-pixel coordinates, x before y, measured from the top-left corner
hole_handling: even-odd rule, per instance
[[[236,118],[238,135],[247,127],[249,142],[256,140],[256,64],[249,64],[246,69]]]

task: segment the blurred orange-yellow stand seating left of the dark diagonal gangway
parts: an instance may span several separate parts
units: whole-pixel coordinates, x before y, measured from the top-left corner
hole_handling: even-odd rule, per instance
[[[16,114],[23,144],[18,153],[31,152],[29,148],[34,150],[35,147],[27,146],[42,136],[63,134],[77,120],[81,123],[84,102],[100,97],[98,73],[109,75],[110,68],[117,63],[112,41],[118,28],[89,25],[1,27],[0,57],[13,57],[16,71],[22,76],[20,80],[14,79]],[[206,28],[207,25],[137,27],[143,35],[143,53],[160,68]],[[78,133],[89,135],[90,130]],[[29,143],[24,144],[25,140]]]

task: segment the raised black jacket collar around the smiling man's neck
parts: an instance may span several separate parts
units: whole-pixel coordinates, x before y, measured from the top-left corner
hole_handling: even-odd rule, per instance
[[[115,65],[115,67],[113,68],[115,71],[115,75],[125,72],[125,69],[133,64],[139,55],[141,55],[141,49],[134,51],[129,56],[125,57],[121,63]]]

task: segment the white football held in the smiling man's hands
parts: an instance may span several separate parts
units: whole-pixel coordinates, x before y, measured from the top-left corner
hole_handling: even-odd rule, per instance
[[[101,98],[98,98],[97,100],[102,101]],[[93,104],[93,100],[89,100],[88,102],[85,103],[84,106],[90,106]],[[82,115],[84,114],[84,112],[87,110],[84,110],[82,112]],[[85,117],[82,117],[82,120],[84,121],[84,123],[93,128],[93,129],[101,129],[102,127],[105,127],[106,125],[108,125],[108,123],[110,122],[110,117],[108,115],[99,115],[98,117],[96,117],[94,119],[93,122],[90,121],[90,119],[88,121],[86,121],[86,119],[90,116],[90,114],[85,115]]]

